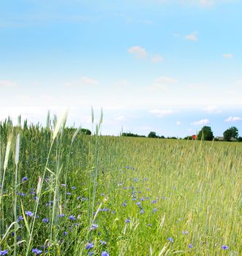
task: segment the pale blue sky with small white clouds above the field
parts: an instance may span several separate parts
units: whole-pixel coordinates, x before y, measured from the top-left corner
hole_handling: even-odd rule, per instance
[[[242,136],[242,1],[0,2],[0,120]]]

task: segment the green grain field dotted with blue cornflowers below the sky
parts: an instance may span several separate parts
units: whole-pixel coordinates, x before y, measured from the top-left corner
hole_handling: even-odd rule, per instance
[[[242,143],[64,123],[0,125],[0,255],[242,255]]]

